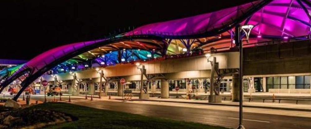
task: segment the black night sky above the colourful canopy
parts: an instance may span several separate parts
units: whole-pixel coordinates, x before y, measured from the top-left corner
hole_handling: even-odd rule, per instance
[[[0,59],[30,60],[51,48],[129,26],[174,20],[249,0],[1,0]]]

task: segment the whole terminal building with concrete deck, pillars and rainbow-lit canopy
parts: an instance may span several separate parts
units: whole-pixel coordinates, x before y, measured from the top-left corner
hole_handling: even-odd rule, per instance
[[[128,89],[141,98],[157,92],[168,98],[179,87],[181,93],[234,98],[242,44],[244,92],[310,94],[310,12],[309,0],[259,0],[126,28],[56,47],[14,66],[10,76],[2,77],[0,92],[18,86],[17,99],[30,86],[43,93],[46,80],[49,87],[72,95],[121,96]]]

